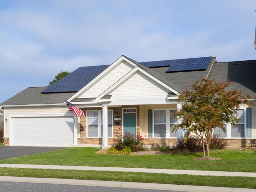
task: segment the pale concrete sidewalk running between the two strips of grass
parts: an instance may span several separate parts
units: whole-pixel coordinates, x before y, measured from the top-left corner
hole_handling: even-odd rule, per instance
[[[89,167],[89,166],[66,166],[66,165],[33,165],[33,164],[0,164],[0,167],[9,168],[33,168],[33,169],[66,169],[84,171],[121,171],[121,172],[148,172],[167,174],[187,174],[187,175],[211,175],[211,176],[231,176],[231,177],[256,177],[256,173],[250,172],[224,172],[224,171],[195,171],[179,169],[147,169],[147,168],[126,168],[126,167]]]

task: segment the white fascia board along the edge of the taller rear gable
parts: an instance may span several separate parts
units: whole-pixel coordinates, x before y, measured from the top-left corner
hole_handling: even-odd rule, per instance
[[[75,99],[76,97],[80,96],[86,89],[91,87],[94,83],[96,83],[101,77],[105,76],[109,71],[111,71],[113,68],[115,68],[118,64],[120,64],[123,60],[129,62],[123,55],[119,57],[116,61],[114,61],[108,68],[106,68],[104,71],[102,71],[98,76],[96,76],[94,79],[92,79],[91,82],[89,82],[87,85],[85,85],[82,89],[80,89],[76,94],[74,94],[72,97],[70,97],[67,101],[71,101]],[[131,63],[131,62],[129,62]],[[132,64],[132,63],[131,63]],[[134,67],[136,67],[136,64],[132,64]]]

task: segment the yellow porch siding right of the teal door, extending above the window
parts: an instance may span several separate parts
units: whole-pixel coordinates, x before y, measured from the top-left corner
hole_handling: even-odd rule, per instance
[[[140,130],[148,137],[148,109],[177,108],[176,104],[140,105]]]

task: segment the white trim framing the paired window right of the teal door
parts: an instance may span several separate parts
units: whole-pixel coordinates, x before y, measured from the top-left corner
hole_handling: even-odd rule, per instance
[[[159,110],[165,110],[165,137],[155,137],[155,122],[154,122],[154,111],[159,111]],[[153,114],[152,114],[152,138],[156,139],[177,139],[177,137],[170,137],[170,110],[177,110],[177,108],[162,108],[162,109],[153,109]],[[176,123],[177,124],[177,123]],[[177,133],[178,134],[178,133]]]

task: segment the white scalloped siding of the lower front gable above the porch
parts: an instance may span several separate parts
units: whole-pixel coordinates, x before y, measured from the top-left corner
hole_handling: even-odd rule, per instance
[[[166,99],[168,92],[170,91],[164,86],[138,71],[109,95],[112,95],[112,101],[154,100]]]

